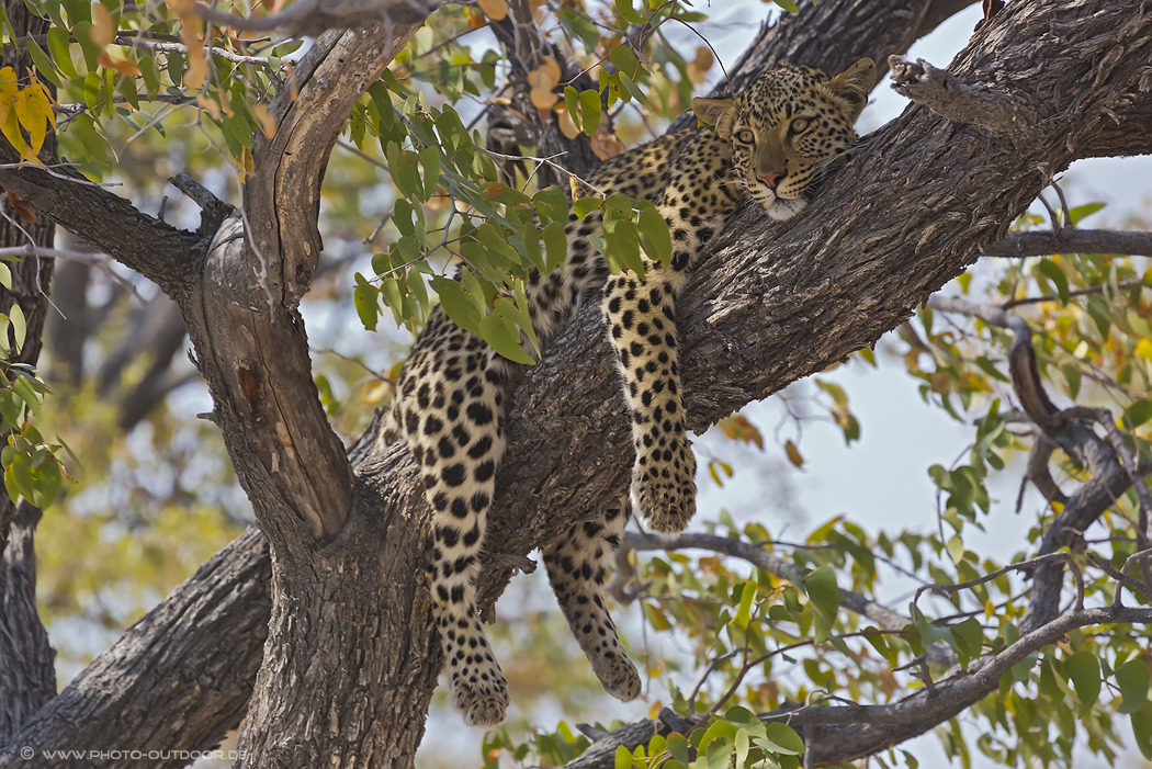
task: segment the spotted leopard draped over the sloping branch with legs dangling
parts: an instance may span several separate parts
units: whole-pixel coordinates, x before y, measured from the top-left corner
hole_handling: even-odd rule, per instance
[[[811,200],[829,161],[857,143],[876,64],[862,59],[829,77],[780,64],[735,98],[696,98],[696,129],[668,134],[601,163],[586,183],[651,201],[668,224],[669,261],[642,253],[643,275],[611,274],[593,246],[602,210],[569,213],[563,264],[531,271],[525,295],[543,351],[589,302],[599,300],[615,353],[635,459],[630,489],[581,516],[543,550],[548,581],[605,691],[623,701],[641,678],[608,614],[604,584],[624,526],[636,513],[657,532],[682,531],[696,511],[696,458],[684,422],[676,300],[702,262],[704,245],[737,212],[786,221]],[[471,725],[503,721],[508,686],[477,610],[485,526],[505,450],[509,387],[521,365],[435,307],[378,419],[373,451],[399,441],[418,465],[432,508],[429,566],[434,623],[450,699]]]

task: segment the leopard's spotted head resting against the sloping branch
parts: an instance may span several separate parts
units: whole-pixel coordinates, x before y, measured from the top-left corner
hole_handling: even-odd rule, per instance
[[[835,77],[785,63],[735,99],[692,99],[692,109],[728,140],[737,181],[782,221],[808,205],[826,161],[856,143],[874,82],[871,59]]]

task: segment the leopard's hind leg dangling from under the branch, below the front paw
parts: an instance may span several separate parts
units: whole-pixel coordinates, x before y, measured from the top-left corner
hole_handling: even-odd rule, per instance
[[[568,626],[604,691],[626,702],[639,696],[641,679],[605,607],[604,578],[630,515],[627,498],[608,505],[599,519],[574,524],[544,553],[548,583]]]

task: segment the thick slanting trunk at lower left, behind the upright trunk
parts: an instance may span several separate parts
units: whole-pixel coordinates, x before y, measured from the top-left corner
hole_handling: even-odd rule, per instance
[[[0,767],[184,767],[177,755],[220,744],[244,716],[267,635],[272,563],[253,527],[214,555],[132,625],[24,729],[6,740]],[[124,729],[129,726],[129,729]],[[32,748],[31,760],[21,748]],[[44,751],[79,751],[81,762]],[[89,752],[141,751],[113,761]]]

